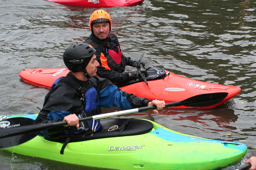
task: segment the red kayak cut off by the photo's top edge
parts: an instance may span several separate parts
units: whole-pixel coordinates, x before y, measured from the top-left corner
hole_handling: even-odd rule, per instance
[[[114,6],[135,6],[144,0],[48,0],[59,4],[82,6],[87,8],[110,8]]]

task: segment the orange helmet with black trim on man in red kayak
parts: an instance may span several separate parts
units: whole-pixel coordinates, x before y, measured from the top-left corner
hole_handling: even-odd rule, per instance
[[[95,23],[100,23],[100,22],[109,22],[110,31],[111,31],[112,22],[111,22],[111,18],[110,18],[110,15],[108,14],[108,12],[106,12],[104,10],[96,10],[90,16],[91,32],[93,32],[92,25],[95,24]]]

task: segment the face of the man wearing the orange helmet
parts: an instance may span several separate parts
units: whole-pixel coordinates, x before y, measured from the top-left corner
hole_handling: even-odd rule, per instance
[[[100,40],[104,40],[110,33],[110,25],[108,22],[100,22],[92,25],[93,34]]]

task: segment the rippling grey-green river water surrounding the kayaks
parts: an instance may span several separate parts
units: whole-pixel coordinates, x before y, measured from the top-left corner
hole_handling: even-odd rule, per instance
[[[95,9],[45,0],[1,0],[0,4],[1,115],[38,113],[49,90],[24,83],[18,73],[65,67],[63,52],[90,35],[89,16]],[[255,6],[253,0],[145,0],[141,6],[104,9],[126,56],[138,59],[145,52],[147,66],[242,89],[213,109],[166,109],[121,118],[150,119],[178,132],[246,144],[246,156],[223,170],[255,156]],[[95,169],[3,150],[0,160],[5,170]]]

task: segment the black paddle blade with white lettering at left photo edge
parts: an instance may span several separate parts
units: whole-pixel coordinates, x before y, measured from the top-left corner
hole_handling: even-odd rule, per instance
[[[41,130],[35,131],[35,128],[28,128],[27,125],[37,126],[37,124],[39,124],[37,121],[25,117],[0,121],[0,148],[16,146],[35,138]],[[24,130],[26,130],[25,133]]]

